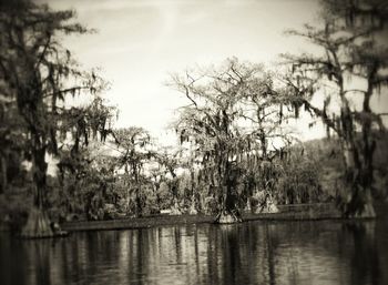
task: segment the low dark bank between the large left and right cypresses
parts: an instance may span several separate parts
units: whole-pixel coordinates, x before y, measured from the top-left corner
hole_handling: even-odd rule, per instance
[[[279,205],[278,213],[243,213],[243,221],[300,221],[340,218],[339,211],[331,203]],[[110,221],[78,221],[61,224],[67,232],[146,228],[163,225],[213,223],[215,215],[156,215],[139,218],[121,218]]]

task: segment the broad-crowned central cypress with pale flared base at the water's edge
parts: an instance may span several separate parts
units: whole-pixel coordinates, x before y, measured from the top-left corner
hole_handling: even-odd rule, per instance
[[[257,145],[266,149],[267,130],[263,122],[249,116],[252,112],[247,109],[248,102],[253,103],[256,110],[253,115],[264,120],[263,110],[267,110],[267,105],[259,99],[279,98],[269,82],[262,65],[239,63],[237,59],[227,60],[217,70],[186,72],[185,77],[173,78],[173,85],[191,102],[181,108],[175,129],[182,144],[194,145],[195,160],[200,160],[202,166],[198,176],[207,182],[219,203],[219,223],[241,220],[237,184],[247,170],[247,157],[259,155]],[[263,155],[266,154],[267,151]]]

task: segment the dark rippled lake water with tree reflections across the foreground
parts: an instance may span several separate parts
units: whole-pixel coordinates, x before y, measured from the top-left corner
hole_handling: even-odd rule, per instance
[[[388,218],[0,234],[0,284],[388,284]]]

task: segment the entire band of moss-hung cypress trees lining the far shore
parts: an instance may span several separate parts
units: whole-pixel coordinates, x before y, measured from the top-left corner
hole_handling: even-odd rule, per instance
[[[283,54],[272,70],[233,58],[173,75],[172,89],[187,99],[173,126],[176,151],[157,151],[143,129],[114,129],[116,110],[101,99],[109,84],[81,70],[60,41],[89,32],[73,11],[27,0],[0,8],[1,192],[29,213],[24,236],[52,235],[50,221],[71,214],[96,220],[172,207],[215,211],[227,223],[252,206],[275,212],[277,203],[325,201],[333,195],[323,191],[320,159],[288,130],[302,112],[337,142],[335,199],[344,215],[375,216],[374,157],[386,114],[370,104],[388,83],[386,1],[323,1],[320,24],[287,32],[316,52]],[[94,141],[115,153],[91,147]]]

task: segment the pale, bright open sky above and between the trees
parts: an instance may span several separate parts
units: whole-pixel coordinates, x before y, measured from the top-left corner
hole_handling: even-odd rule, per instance
[[[116,126],[143,126],[162,143],[174,110],[187,104],[165,85],[169,73],[226,58],[265,62],[278,53],[306,51],[285,37],[317,18],[317,0],[39,0],[53,9],[75,9],[98,33],[64,41],[86,69],[100,67],[112,84],[105,98],[120,109]],[[307,50],[308,51],[308,50]],[[302,139],[324,135],[299,120]]]

